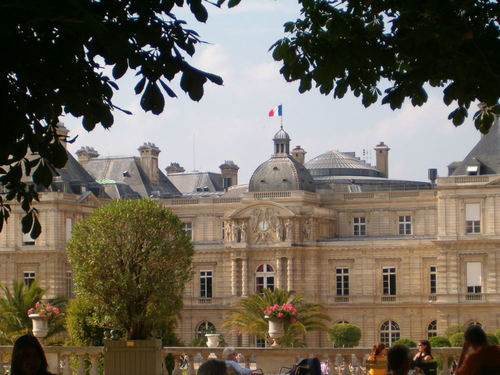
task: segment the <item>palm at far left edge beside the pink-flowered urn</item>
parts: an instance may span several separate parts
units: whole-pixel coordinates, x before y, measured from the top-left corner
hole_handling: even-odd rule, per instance
[[[13,344],[17,337],[31,331],[32,323],[27,312],[49,289],[39,287],[38,280],[36,277],[29,287],[23,281],[12,280],[12,291],[0,283],[0,289],[5,294],[4,297],[0,297],[0,338],[3,343]],[[67,298],[56,297],[49,302],[63,309]],[[47,337],[63,330],[63,319],[55,319],[48,324]]]

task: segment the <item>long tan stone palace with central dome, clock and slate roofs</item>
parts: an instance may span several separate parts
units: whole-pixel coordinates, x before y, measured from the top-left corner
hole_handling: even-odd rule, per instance
[[[51,187],[38,189],[39,238],[22,234],[22,210],[12,204],[0,233],[0,281],[39,276],[47,298],[73,296],[65,245],[72,225],[111,199],[149,197],[181,218],[195,246],[178,326],[185,342],[200,327],[225,334],[231,303],[262,288],[304,291],[331,324],[358,325],[364,347],[456,324],[500,328],[498,120],[465,159],[449,160],[447,176],[429,169],[427,181],[392,179],[383,141],[373,141],[373,166],[353,152],[306,157],[300,139],[290,143],[293,134],[275,130],[263,140],[268,154],[253,156],[262,163],[249,181],[238,180],[237,160],[186,171],[150,142],[132,156],[101,157],[91,145],[68,154]],[[68,132],[62,124],[59,131]],[[225,339],[265,345],[233,333]],[[305,341],[332,346],[325,332]]]

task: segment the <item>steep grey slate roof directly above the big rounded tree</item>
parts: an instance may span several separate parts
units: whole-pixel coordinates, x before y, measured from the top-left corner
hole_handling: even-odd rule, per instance
[[[124,182],[141,196],[149,197],[153,191],[172,196],[180,195],[179,190],[160,169],[158,169],[158,182],[151,182],[140,166],[140,158],[137,156],[95,157],[88,160],[85,169],[96,179]]]

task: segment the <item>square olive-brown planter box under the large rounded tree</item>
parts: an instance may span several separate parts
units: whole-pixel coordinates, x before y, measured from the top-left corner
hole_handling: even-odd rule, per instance
[[[106,375],[161,375],[161,340],[104,340]]]

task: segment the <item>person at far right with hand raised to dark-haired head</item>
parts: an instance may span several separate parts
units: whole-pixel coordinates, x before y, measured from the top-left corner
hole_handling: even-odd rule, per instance
[[[474,351],[467,355],[470,347]],[[462,352],[455,375],[480,375],[482,366],[500,366],[500,346],[490,344],[482,327],[472,324],[463,332]]]

